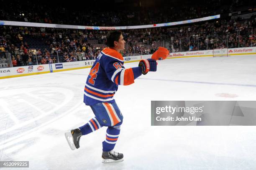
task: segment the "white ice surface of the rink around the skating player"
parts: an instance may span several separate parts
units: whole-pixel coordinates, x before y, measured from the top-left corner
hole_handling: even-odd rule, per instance
[[[256,170],[255,126],[151,126],[151,100],[256,100],[256,57],[166,59],[119,86],[115,151],[124,161],[115,164],[101,163],[106,127],[74,151],[64,137],[94,117],[83,103],[89,71],[0,80],[0,161],[29,161],[24,170]]]

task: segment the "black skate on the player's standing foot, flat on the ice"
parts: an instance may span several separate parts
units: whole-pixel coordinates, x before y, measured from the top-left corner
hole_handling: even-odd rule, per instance
[[[109,152],[102,152],[102,163],[122,162],[123,154],[113,150]]]

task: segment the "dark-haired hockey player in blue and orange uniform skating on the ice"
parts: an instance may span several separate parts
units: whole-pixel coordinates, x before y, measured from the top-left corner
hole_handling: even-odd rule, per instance
[[[113,151],[123,123],[123,115],[113,99],[118,85],[133,84],[141,74],[156,71],[157,65],[150,58],[141,60],[138,67],[125,69],[123,56],[120,54],[125,49],[125,40],[118,30],[108,33],[107,45],[108,48],[104,48],[97,56],[84,87],[84,103],[92,108],[95,117],[83,126],[65,133],[69,146],[74,150],[79,148],[82,135],[103,126],[108,127],[106,139],[102,142],[103,163],[123,161],[123,154]]]

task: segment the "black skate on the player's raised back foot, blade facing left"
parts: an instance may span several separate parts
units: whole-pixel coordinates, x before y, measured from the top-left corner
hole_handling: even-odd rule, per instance
[[[69,143],[69,147],[74,150],[75,148],[79,148],[80,137],[82,136],[82,132],[80,129],[72,129],[70,132],[65,133],[65,137],[67,142]]]

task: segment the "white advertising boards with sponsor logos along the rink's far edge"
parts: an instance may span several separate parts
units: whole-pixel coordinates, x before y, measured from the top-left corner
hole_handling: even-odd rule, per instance
[[[168,59],[170,58],[189,58],[189,57],[213,57],[214,53],[218,55],[217,50],[205,50],[205,51],[187,51],[187,52],[177,52],[169,53]],[[222,51],[223,52],[223,51]],[[221,51],[220,51],[221,53]],[[226,48],[227,56],[256,56],[256,47],[246,47],[246,48]],[[221,54],[219,54],[221,55]],[[141,56],[127,56],[123,57],[125,63],[140,61],[141,59],[151,58],[151,55],[141,55]],[[53,63],[53,64],[43,64],[35,66],[20,66],[13,68],[3,68],[0,69],[0,79],[20,77],[20,76],[30,76],[36,74],[45,74],[51,72],[59,71],[69,71],[75,69],[85,69],[92,67],[95,60],[86,61],[74,61],[68,63]]]

